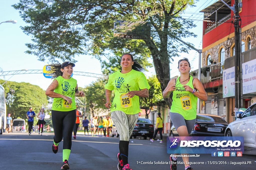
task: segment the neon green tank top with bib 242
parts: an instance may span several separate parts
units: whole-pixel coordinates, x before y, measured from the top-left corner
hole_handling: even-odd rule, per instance
[[[180,84],[180,76],[176,81],[176,90],[173,91],[173,102],[170,109],[170,112],[181,114],[186,120],[196,119],[196,104],[197,97],[186,91],[184,85]],[[193,77],[190,75],[189,81],[187,84],[189,87],[194,89],[193,86]]]

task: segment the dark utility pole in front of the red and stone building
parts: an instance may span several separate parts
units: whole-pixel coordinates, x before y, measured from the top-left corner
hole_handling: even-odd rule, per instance
[[[229,7],[234,12],[234,34],[235,34],[235,108],[239,109],[242,106],[241,101],[241,87],[242,87],[242,62],[241,62],[241,28],[240,28],[240,16],[239,16],[239,7],[242,7],[240,0],[234,0],[235,4],[233,7],[230,7],[226,2],[223,2],[227,7]]]

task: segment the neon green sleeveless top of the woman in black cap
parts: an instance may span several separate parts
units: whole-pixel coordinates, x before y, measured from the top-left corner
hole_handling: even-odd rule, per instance
[[[77,86],[77,80],[70,77],[70,79],[64,79],[62,76],[55,78],[59,85],[54,90],[55,93],[62,94],[71,97],[72,103],[68,103],[67,100],[62,98],[54,98],[51,110],[55,111],[71,111],[76,109],[75,101],[75,89]]]

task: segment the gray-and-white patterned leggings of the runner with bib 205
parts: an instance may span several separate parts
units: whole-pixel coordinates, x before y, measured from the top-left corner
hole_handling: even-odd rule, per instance
[[[120,135],[120,140],[129,141],[132,131],[138,121],[137,114],[125,114],[122,111],[111,112],[111,119]]]

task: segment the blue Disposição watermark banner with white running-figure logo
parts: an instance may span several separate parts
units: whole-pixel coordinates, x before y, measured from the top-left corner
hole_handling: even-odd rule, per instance
[[[216,156],[220,156],[218,152],[222,152],[222,156],[225,156],[224,152],[228,152],[228,156],[230,156],[231,152],[235,152],[236,154],[237,152],[242,153],[243,151],[244,139],[241,136],[167,137],[167,153],[170,154],[214,154],[216,152]]]

